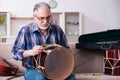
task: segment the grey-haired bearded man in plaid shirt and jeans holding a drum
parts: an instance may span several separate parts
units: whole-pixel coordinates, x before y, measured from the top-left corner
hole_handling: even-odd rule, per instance
[[[12,56],[21,60],[25,80],[47,80],[47,77],[35,69],[32,63],[33,56],[41,54],[43,44],[59,44],[68,47],[67,39],[62,29],[51,24],[50,6],[45,2],[35,4],[33,9],[34,22],[21,28],[12,48]],[[66,80],[75,80],[71,74]]]

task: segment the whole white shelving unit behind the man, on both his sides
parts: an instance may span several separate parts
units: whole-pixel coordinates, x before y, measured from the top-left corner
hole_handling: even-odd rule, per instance
[[[17,36],[20,28],[34,21],[32,16],[10,16],[8,12],[0,12],[1,14],[4,14],[6,19],[4,25],[0,26],[1,36]],[[77,42],[78,36],[82,33],[81,21],[80,12],[52,12],[51,22],[60,25],[68,42]]]

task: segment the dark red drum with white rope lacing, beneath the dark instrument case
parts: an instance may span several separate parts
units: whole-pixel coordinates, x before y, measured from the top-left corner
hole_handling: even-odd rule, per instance
[[[106,50],[104,73],[120,76],[120,52],[118,49]]]

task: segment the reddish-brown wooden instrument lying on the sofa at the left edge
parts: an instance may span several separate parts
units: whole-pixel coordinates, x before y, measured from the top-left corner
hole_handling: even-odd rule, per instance
[[[10,64],[8,61],[0,58],[0,75],[11,76],[15,75],[18,71],[18,66]]]

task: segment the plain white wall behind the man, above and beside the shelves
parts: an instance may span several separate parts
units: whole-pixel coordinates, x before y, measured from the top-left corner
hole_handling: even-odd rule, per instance
[[[33,5],[43,0],[0,0],[0,11],[13,16],[32,16]],[[44,0],[49,2],[50,0]],[[83,33],[120,28],[120,0],[56,0],[52,11],[79,11],[83,14]]]

